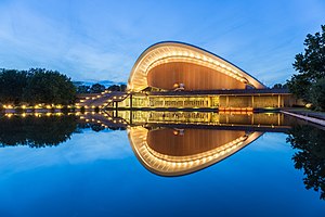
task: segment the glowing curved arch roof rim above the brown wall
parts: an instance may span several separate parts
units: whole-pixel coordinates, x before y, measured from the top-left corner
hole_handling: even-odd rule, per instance
[[[171,62],[186,62],[206,66],[216,69],[216,73],[223,73],[256,89],[265,88],[255,77],[214,53],[188,43],[162,41],[148,47],[139,56],[130,73],[128,89],[132,91],[145,89],[148,87],[148,72],[158,65]]]

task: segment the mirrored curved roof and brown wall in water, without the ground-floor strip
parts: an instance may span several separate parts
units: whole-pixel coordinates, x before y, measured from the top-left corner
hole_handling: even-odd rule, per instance
[[[150,171],[160,176],[181,176],[224,159],[262,133],[131,127],[129,139],[135,155]]]

